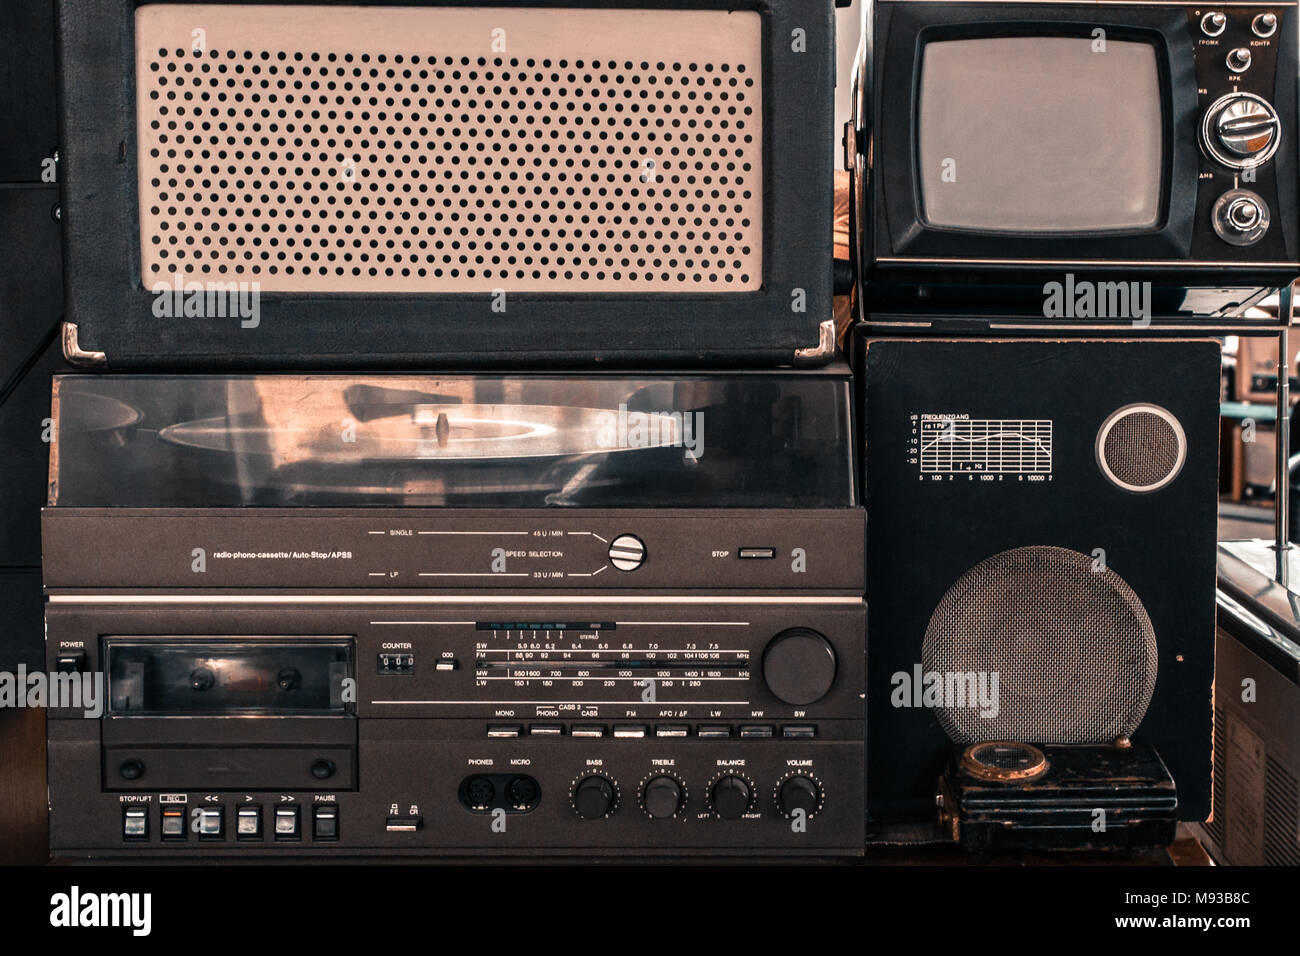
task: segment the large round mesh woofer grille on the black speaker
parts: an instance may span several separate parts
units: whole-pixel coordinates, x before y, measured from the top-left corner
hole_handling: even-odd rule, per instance
[[[945,682],[997,675],[997,708],[948,697],[939,723],[957,743],[1108,743],[1150,704],[1156,632],[1132,588],[1065,548],[994,554],[939,602],[922,666]],[[958,675],[958,676],[953,676]],[[967,687],[972,687],[967,682]]]

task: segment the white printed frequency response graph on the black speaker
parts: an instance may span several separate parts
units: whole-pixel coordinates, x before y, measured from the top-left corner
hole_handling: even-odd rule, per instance
[[[920,416],[920,471],[1044,475],[1052,472],[1050,419]]]

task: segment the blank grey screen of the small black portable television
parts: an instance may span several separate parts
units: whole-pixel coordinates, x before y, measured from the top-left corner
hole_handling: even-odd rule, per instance
[[[916,114],[923,217],[937,229],[998,233],[1154,229],[1161,116],[1149,43],[931,42]]]

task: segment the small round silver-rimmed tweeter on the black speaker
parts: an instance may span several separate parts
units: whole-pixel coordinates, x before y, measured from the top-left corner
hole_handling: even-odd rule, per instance
[[[1154,492],[1175,477],[1187,460],[1187,434],[1158,405],[1126,405],[1097,429],[1097,467],[1126,492]]]

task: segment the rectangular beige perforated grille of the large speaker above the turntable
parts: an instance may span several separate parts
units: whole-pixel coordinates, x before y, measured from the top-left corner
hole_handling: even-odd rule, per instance
[[[762,285],[758,13],[147,5],[146,287]]]

